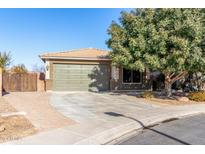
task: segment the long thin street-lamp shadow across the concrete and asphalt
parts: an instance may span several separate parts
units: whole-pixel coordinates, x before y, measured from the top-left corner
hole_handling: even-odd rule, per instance
[[[115,112],[105,112],[104,114],[109,115],[109,116],[113,116],[113,117],[124,117],[124,118],[128,118],[128,119],[134,120],[134,121],[136,121],[137,123],[139,123],[139,124],[142,126],[143,129],[150,130],[150,131],[152,131],[152,132],[154,132],[154,133],[157,133],[157,134],[160,134],[160,135],[162,135],[162,136],[165,136],[165,137],[167,137],[167,138],[169,138],[169,139],[171,139],[171,140],[174,140],[174,141],[176,141],[176,142],[178,142],[178,143],[181,143],[181,144],[183,144],[183,145],[190,145],[189,143],[187,143],[187,142],[185,142],[185,141],[182,141],[182,140],[180,140],[180,139],[178,139],[178,138],[175,138],[175,137],[173,137],[173,136],[170,136],[170,135],[168,135],[168,134],[165,134],[165,133],[163,133],[163,132],[160,132],[160,131],[158,131],[158,130],[155,130],[155,129],[151,128],[152,126],[145,126],[141,121],[139,121],[139,120],[137,120],[137,119],[135,119],[135,118],[133,118],[133,117],[129,117],[129,116],[126,116],[126,115],[123,115],[123,114],[115,113]]]

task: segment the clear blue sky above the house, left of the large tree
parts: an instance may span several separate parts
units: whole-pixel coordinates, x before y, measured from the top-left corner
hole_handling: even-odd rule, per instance
[[[107,29],[130,9],[0,9],[0,51],[11,52],[12,65],[29,70],[43,65],[45,52],[78,48],[108,49]]]

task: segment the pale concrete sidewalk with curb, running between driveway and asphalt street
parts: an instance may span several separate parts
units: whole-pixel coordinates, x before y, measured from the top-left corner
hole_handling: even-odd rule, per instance
[[[5,144],[107,144],[124,134],[142,129],[143,126],[153,125],[170,118],[201,113],[205,113],[204,104],[166,106],[147,110],[146,112],[142,111],[136,115],[110,112],[107,113],[108,116],[110,116],[110,122],[103,122],[103,120],[101,120],[91,123],[74,124]]]

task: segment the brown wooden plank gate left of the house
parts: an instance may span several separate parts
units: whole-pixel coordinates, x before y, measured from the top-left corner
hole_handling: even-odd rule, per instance
[[[3,91],[37,91],[37,73],[3,73]]]

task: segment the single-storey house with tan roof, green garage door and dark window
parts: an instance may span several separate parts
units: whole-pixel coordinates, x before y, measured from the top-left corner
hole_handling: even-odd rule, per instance
[[[46,90],[108,91],[150,88],[149,72],[111,64],[109,51],[87,48],[40,55],[46,65]]]

